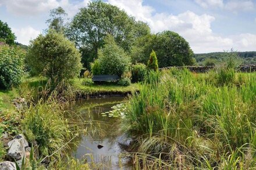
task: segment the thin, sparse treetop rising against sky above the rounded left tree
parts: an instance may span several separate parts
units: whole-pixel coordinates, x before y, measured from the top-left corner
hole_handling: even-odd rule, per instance
[[[61,6],[58,8],[52,9],[50,11],[50,19],[46,21],[48,23],[49,29],[55,30],[56,32],[64,32],[65,26],[64,21],[67,13]]]

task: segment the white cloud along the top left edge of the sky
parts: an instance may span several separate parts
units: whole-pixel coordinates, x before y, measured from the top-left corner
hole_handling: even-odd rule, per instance
[[[87,6],[90,0],[71,3],[69,0],[0,0],[0,4],[6,6],[9,13],[17,16],[36,16],[48,12],[51,9],[61,6],[69,16],[77,13],[79,8]]]

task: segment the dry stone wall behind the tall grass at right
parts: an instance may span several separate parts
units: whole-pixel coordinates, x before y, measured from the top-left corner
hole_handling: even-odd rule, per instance
[[[184,67],[186,67],[187,69],[189,69],[190,71],[192,71],[194,73],[206,73],[209,70],[212,70],[213,68],[215,68],[214,66],[184,66]],[[164,69],[169,69],[169,68],[182,69],[184,67],[165,67],[165,68],[159,68],[159,70],[164,70]],[[237,67],[237,71],[254,72],[254,71],[256,71],[256,64],[240,65]]]

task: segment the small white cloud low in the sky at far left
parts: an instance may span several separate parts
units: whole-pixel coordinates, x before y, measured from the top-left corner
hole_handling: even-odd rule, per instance
[[[29,45],[29,41],[40,34],[40,31],[35,30],[30,26],[24,28],[12,28],[12,31],[17,37],[16,41],[24,45]]]

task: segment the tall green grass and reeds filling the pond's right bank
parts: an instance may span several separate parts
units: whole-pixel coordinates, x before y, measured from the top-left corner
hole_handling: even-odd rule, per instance
[[[124,120],[134,139],[130,149],[144,155],[141,164],[148,158],[179,169],[253,168],[255,99],[255,73],[173,68],[150,74]]]

